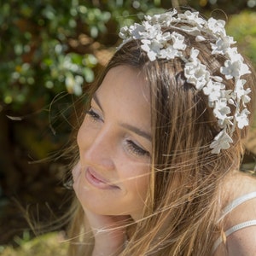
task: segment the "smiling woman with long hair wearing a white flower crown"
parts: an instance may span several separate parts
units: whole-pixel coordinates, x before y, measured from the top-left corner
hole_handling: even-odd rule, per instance
[[[255,255],[256,181],[238,172],[253,70],[223,20],[145,19],[90,88],[70,255]]]

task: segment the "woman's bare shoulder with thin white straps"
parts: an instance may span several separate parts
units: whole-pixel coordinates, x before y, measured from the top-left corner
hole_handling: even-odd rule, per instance
[[[229,187],[230,202],[247,198],[224,219],[229,255],[256,255],[256,177],[237,173]],[[247,196],[251,195],[251,196]],[[238,200],[239,201],[239,200]]]

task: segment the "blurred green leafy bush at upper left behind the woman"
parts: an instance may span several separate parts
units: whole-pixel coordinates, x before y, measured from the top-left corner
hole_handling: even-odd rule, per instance
[[[94,80],[97,59],[91,45],[114,44],[120,17],[135,1],[5,1],[0,9],[0,102],[13,107],[67,90],[81,95]],[[143,12],[154,6],[143,1]],[[112,28],[113,27],[113,28]],[[85,41],[79,41],[84,35]],[[80,47],[79,47],[80,46]]]

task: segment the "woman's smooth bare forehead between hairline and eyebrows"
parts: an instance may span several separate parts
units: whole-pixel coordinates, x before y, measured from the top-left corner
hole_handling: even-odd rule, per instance
[[[114,110],[119,116],[123,114],[125,119],[143,116],[150,122],[150,90],[139,70],[126,66],[111,68],[96,96],[102,108]]]

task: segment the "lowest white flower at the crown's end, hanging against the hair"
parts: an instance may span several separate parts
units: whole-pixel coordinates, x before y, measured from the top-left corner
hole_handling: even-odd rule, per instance
[[[212,154],[219,154],[221,149],[230,148],[230,143],[233,143],[233,140],[228,133],[225,130],[220,131],[210,145]]]

